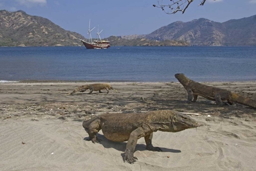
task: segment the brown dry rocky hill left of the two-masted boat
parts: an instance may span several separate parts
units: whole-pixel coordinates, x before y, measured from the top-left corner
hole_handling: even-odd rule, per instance
[[[79,38],[85,39],[49,19],[0,10],[0,46],[80,46]]]

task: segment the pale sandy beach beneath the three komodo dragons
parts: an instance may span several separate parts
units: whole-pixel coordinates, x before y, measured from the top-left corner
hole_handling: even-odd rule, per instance
[[[255,170],[256,110],[224,105],[199,97],[186,103],[178,82],[110,82],[107,94],[94,91],[66,96],[85,82],[0,83],[0,170]],[[204,82],[256,100],[256,82]],[[145,149],[138,140],[128,164],[122,154],[126,142],[104,138],[85,141],[82,121],[102,113],[142,113],[176,110],[191,115],[198,128],[154,133]]]

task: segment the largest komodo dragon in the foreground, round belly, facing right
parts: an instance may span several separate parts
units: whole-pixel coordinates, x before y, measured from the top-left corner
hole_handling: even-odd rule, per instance
[[[129,163],[138,159],[133,156],[138,139],[144,137],[147,150],[160,152],[161,148],[152,145],[153,132],[178,132],[197,126],[196,120],[171,110],[148,113],[107,113],[83,122],[83,127],[89,134],[87,141],[99,142],[100,139],[96,136],[99,130],[102,130],[105,138],[111,141],[128,141],[123,159]]]

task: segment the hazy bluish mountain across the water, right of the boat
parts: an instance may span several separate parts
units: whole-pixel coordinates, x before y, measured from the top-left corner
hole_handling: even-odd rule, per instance
[[[224,23],[209,19],[177,21],[163,26],[143,38],[149,40],[182,40],[192,46],[256,46],[256,15],[231,19]]]

